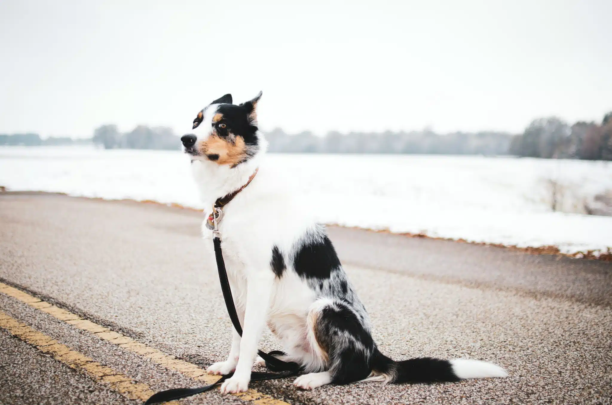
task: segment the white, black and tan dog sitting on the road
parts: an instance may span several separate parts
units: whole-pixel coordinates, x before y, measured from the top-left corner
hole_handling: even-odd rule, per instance
[[[252,180],[223,208],[218,224],[244,330],[241,338],[232,328],[227,360],[207,368],[212,374],[234,372],[221,392],[248,389],[253,364],[263,362],[256,354],[266,325],[286,352],[281,359],[302,367],[304,374],[294,385],[305,390],[357,381],[430,383],[506,377],[506,371],[492,363],[430,357],[396,362],[378,350],[368,313],[326,228],[311,215],[312,208],[296,201],[264,165],[267,142],[257,124],[260,98],[261,92],[234,105],[231,94],[223,95],[197,114],[192,133],[181,138],[207,207],[206,217],[218,198]],[[206,221],[204,239],[212,239],[204,225]]]

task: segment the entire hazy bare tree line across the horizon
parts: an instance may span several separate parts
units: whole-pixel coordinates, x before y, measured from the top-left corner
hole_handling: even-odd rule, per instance
[[[576,122],[569,125],[557,117],[534,119],[520,135],[506,132],[435,133],[430,129],[409,132],[312,132],[294,135],[276,128],[264,133],[271,152],[336,154],[449,154],[515,155],[540,158],[612,160],[612,112],[601,124]],[[168,127],[138,125],[120,132],[116,125],[102,125],[90,139],[51,137],[35,133],[2,135],[0,145],[54,145],[93,142],[105,149],[180,149],[179,137]]]

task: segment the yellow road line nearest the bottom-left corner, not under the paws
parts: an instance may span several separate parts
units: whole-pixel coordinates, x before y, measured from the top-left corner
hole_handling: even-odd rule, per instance
[[[93,359],[86,357],[80,352],[71,350],[69,347],[64,346],[64,344],[51,339],[47,335],[43,335],[43,333],[32,329],[26,324],[22,324],[2,311],[0,311],[0,327],[26,343],[32,344],[32,346],[35,346],[40,351],[51,354],[56,360],[70,368],[84,371],[94,380],[109,385],[113,390],[121,393],[128,399],[146,401],[149,396],[155,393],[149,388],[149,385],[136,383],[128,376],[108,366],[94,362]]]

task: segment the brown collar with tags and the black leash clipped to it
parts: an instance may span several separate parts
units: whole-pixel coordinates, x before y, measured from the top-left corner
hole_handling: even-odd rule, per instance
[[[215,205],[212,209],[212,214],[208,218],[207,227],[212,229],[212,233],[214,238],[212,242],[215,247],[215,259],[217,259],[217,270],[219,273],[219,282],[221,283],[221,290],[223,291],[223,299],[225,299],[225,307],[228,310],[228,314],[230,315],[231,323],[234,325],[234,329],[238,335],[242,336],[242,327],[240,325],[240,321],[238,319],[238,314],[236,313],[236,307],[234,306],[234,299],[231,295],[230,282],[228,281],[228,274],[225,270],[225,261],[223,260],[223,251],[221,250],[221,234],[218,229],[218,224],[221,218],[223,217],[223,207],[228,204],[240,191],[244,190],[245,187],[253,180],[257,171],[249,177],[247,184],[226,195],[223,198],[217,199]],[[211,226],[208,226],[208,225]],[[294,376],[299,374],[300,366],[294,362],[283,362],[283,360],[277,359],[274,357],[275,355],[285,355],[285,353],[281,351],[272,351],[269,353],[263,352],[261,350],[257,351],[259,357],[266,361],[266,366],[269,370],[275,371],[275,373],[262,373],[259,371],[255,371],[251,373],[251,381],[263,381],[263,380],[274,380],[279,378],[285,378],[289,376]],[[203,387],[198,388],[174,388],[173,390],[166,390],[162,392],[158,392],[151,396],[151,398],[147,399],[144,405],[149,404],[159,404],[166,401],[173,401],[174,399],[181,399],[187,396],[192,396],[199,394],[201,392],[206,392],[210,390],[217,384],[221,384],[226,379],[233,376],[234,373],[226,374],[218,379],[217,382],[213,384],[204,385]]]

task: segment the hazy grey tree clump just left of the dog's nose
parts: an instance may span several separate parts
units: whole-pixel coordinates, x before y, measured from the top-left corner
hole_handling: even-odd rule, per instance
[[[92,141],[105,149],[179,149],[181,141],[171,128],[138,125],[120,133],[116,125],[102,125],[94,130]]]

